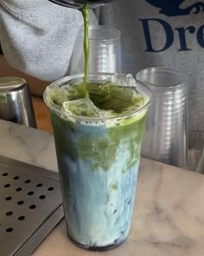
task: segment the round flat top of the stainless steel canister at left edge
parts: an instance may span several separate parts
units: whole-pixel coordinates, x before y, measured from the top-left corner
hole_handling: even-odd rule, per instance
[[[16,76],[0,77],[0,92],[6,93],[9,91],[20,89],[21,87],[24,87],[26,84],[27,82],[21,77],[16,77]]]

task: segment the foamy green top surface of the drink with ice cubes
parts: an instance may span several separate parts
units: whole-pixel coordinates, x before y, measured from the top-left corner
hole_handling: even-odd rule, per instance
[[[116,126],[139,120],[149,95],[138,92],[132,75],[112,75],[104,82],[86,84],[90,98],[84,98],[83,82],[50,87],[47,101],[63,119],[91,126]],[[124,117],[126,116],[126,117]]]

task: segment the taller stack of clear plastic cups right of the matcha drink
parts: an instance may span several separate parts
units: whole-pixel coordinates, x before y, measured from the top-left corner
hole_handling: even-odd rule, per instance
[[[188,87],[171,69],[150,68],[137,73],[153,102],[146,121],[142,156],[177,167],[187,167]]]

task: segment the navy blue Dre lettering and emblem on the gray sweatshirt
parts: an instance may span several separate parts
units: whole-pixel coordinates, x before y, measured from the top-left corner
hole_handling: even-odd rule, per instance
[[[197,41],[198,45],[201,48],[204,48],[204,24],[196,27],[195,25],[188,25],[187,23],[186,27],[174,28],[170,23],[172,18],[174,19],[176,16],[194,16],[195,14],[204,12],[204,3],[197,2],[192,3],[187,7],[181,7],[185,0],[145,1],[158,9],[158,16],[156,16],[156,18],[139,19],[139,22],[142,23],[143,27],[143,35],[146,43],[145,51],[163,52],[174,44],[175,36],[179,39],[177,40],[179,42],[178,51],[192,50],[190,47],[191,40],[188,42],[188,38],[192,38],[192,36],[194,36],[194,40]],[[193,19],[189,17],[189,22],[192,20]],[[162,35],[160,38],[162,43],[159,45],[158,41],[154,41],[156,31],[158,31],[158,35]]]

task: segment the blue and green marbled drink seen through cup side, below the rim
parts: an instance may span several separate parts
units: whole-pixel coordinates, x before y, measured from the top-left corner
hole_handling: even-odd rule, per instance
[[[128,236],[145,112],[107,126],[51,111],[67,231],[81,246],[118,246]]]

